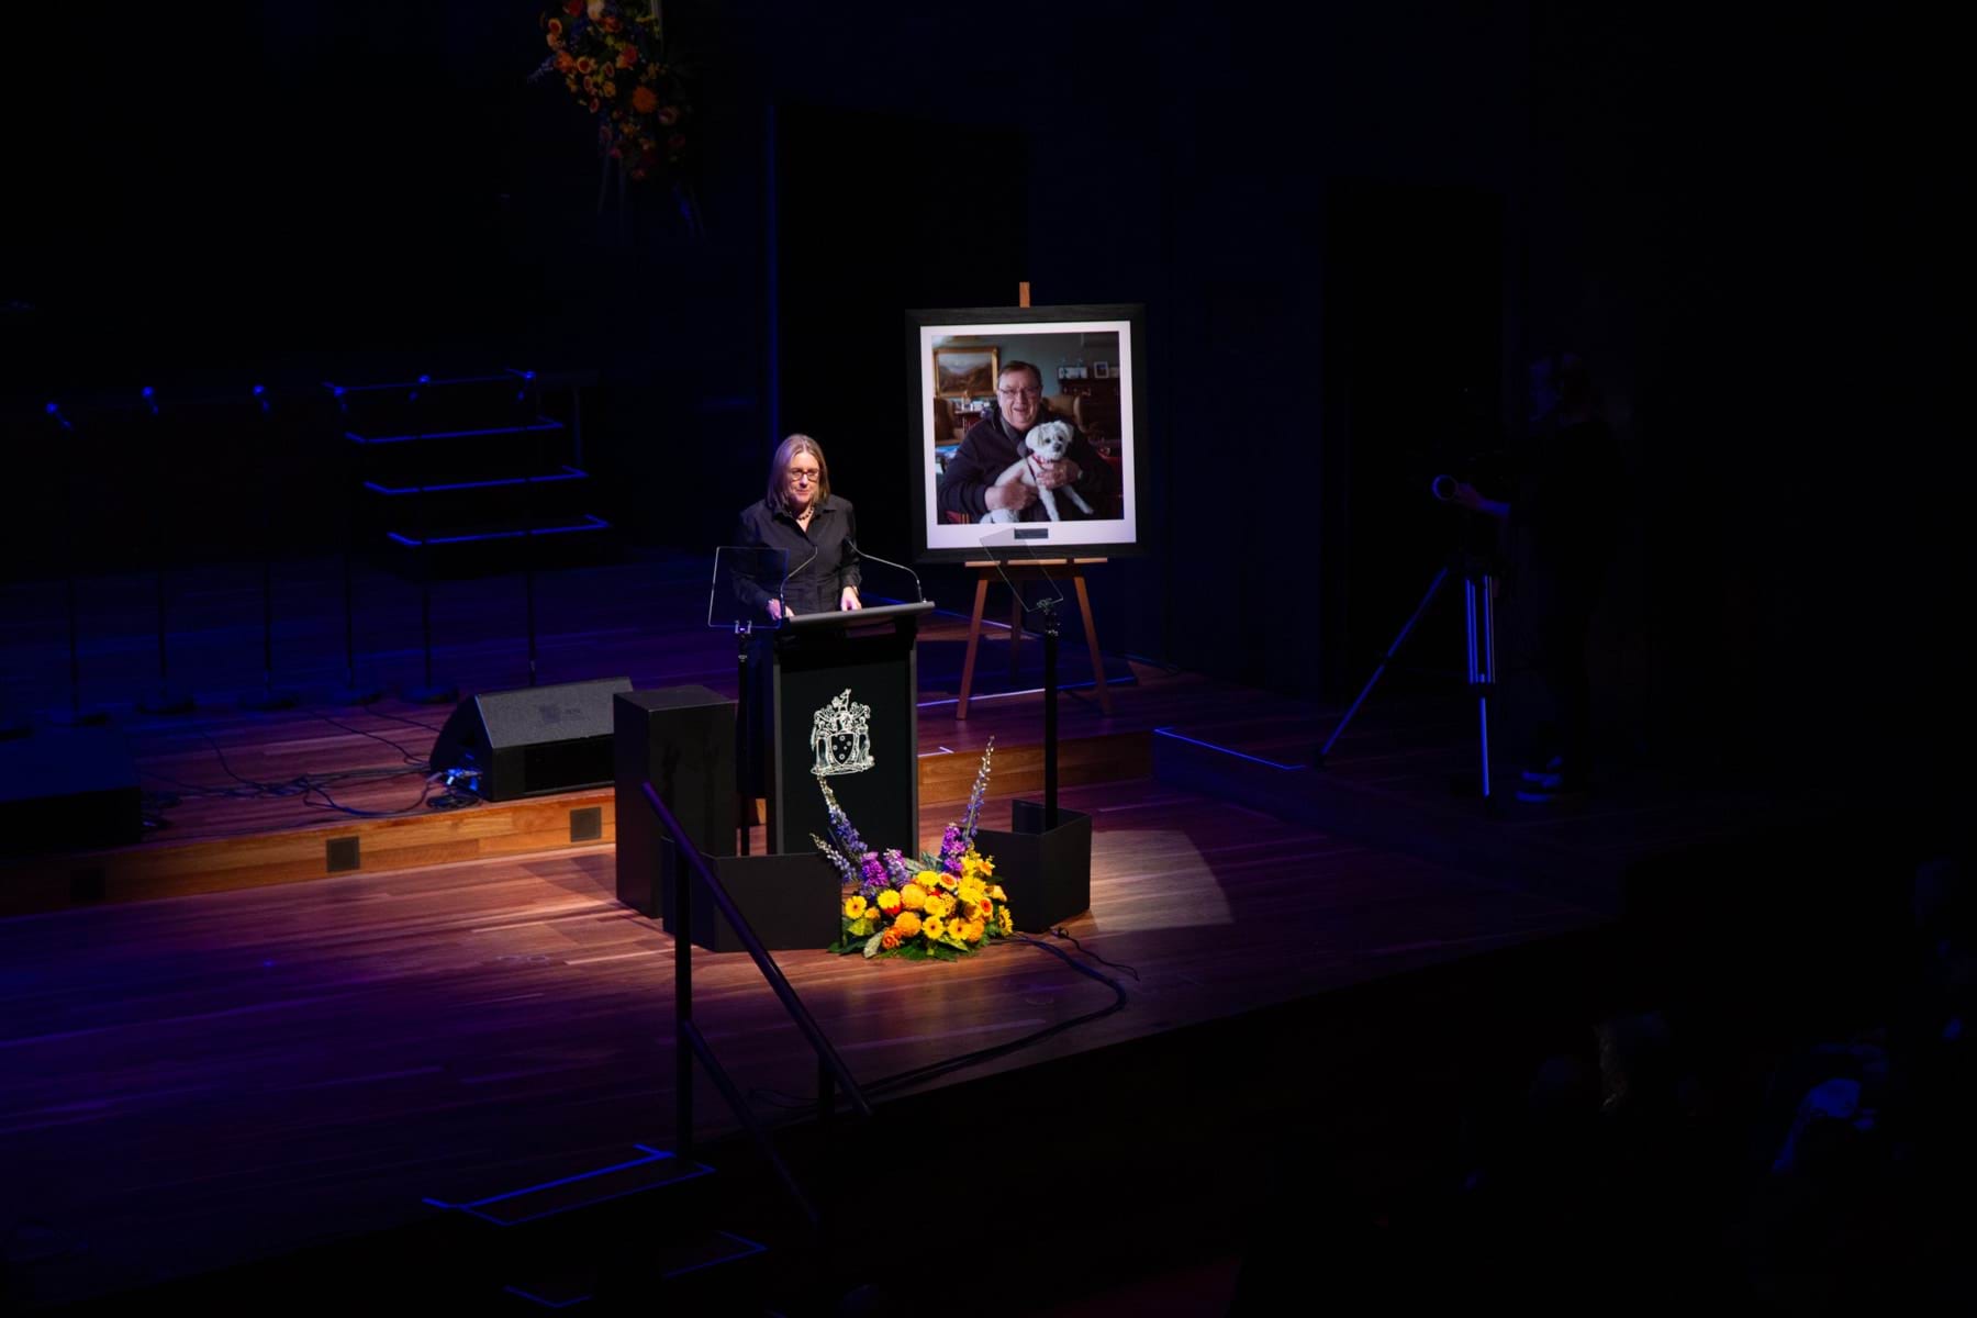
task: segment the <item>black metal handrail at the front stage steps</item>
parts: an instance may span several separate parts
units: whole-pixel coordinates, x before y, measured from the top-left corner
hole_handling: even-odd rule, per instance
[[[803,1000],[797,996],[797,990],[789,986],[789,980],[783,976],[781,966],[775,964],[775,960],[769,956],[769,948],[765,948],[761,945],[761,939],[755,937],[755,929],[747,923],[747,917],[741,915],[741,909],[735,905],[733,897],[728,895],[728,889],[714,875],[714,869],[708,867],[708,862],[700,854],[700,848],[694,846],[694,840],[686,836],[684,828],[680,828],[680,820],[672,816],[672,810],[668,810],[666,802],[660,800],[658,790],[652,788],[650,781],[641,783],[641,790],[645,792],[646,802],[652,806],[652,812],[658,816],[658,822],[664,824],[666,832],[672,836],[672,850],[680,858],[684,858],[686,865],[692,867],[692,875],[698,875],[700,881],[708,885],[708,895],[714,899],[714,905],[720,907],[720,913],[728,917],[730,925],[733,925],[735,939],[739,939],[749,958],[753,958],[755,968],[761,970],[761,976],[769,980],[769,988],[773,988],[775,996],[783,1002],[783,1010],[789,1012],[789,1018],[797,1024],[797,1030],[803,1033],[803,1037],[811,1043],[811,1049],[817,1053],[818,1120],[828,1120],[830,1112],[836,1109],[834,1087],[840,1087],[844,1091],[844,1099],[860,1116],[870,1116],[872,1105],[866,1101],[864,1089],[860,1089],[858,1081],[850,1073],[850,1067],[844,1065],[844,1059],[838,1057],[838,1049],[834,1049],[830,1045],[830,1039],[824,1037],[824,1031],[811,1016],[811,1010],[803,1006]],[[676,1039],[674,1103],[678,1116],[680,1152],[682,1154],[688,1152],[694,1142],[694,1055],[698,1053],[700,1061],[708,1067],[710,1075],[714,1077],[714,1083],[728,1099],[728,1105],[735,1111],[735,1116],[749,1130],[749,1134],[755,1136],[755,1142],[763,1146],[763,1152],[769,1154],[769,1160],[783,1176],[783,1182],[789,1186],[791,1194],[797,1195],[797,1201],[803,1205],[805,1213],[815,1223],[817,1221],[815,1211],[805,1201],[803,1194],[797,1192],[797,1186],[791,1180],[789,1170],[783,1166],[783,1160],[777,1158],[775,1150],[769,1148],[767,1134],[761,1130],[759,1122],[755,1122],[753,1114],[747,1111],[747,1103],[743,1101],[741,1091],[735,1089],[733,1081],[728,1077],[728,1071],[714,1059],[714,1051],[708,1047],[706,1037],[700,1033],[700,1030],[694,1028],[692,875],[680,871],[672,883],[672,927],[674,927],[672,1024]],[[682,1047],[680,1041],[684,1041],[686,1045]]]

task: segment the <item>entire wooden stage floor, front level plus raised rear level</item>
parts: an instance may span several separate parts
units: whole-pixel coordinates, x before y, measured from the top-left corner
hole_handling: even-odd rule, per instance
[[[733,692],[731,636],[692,626],[700,563],[550,585],[544,680]],[[389,595],[387,630],[415,634],[403,585],[366,589]],[[522,686],[514,638],[490,620],[514,583],[445,589],[459,613],[443,670],[467,692]],[[314,656],[283,670],[304,703],[235,707],[227,692],[259,678],[245,591],[219,583],[188,605],[174,662],[206,676],[196,713],[113,701],[148,792],[146,840],[0,865],[0,911],[14,911],[0,919],[0,1227],[24,1306],[387,1229],[431,1213],[427,1197],[542,1184],[674,1136],[672,941],[613,897],[611,794],[421,808],[415,765],[447,709],[328,703],[340,618],[301,595],[279,652]],[[53,597],[10,599],[40,611],[10,622],[6,692],[57,703]],[[97,690],[142,690],[140,603],[95,617]],[[1010,674],[1006,642],[988,642],[988,698],[963,723],[963,632],[955,615],[923,632],[925,836],[953,818],[988,737],[990,822],[1040,784],[1038,646]],[[1066,646],[1066,676],[1089,684],[1079,648]],[[419,676],[403,644],[368,654],[387,682]],[[1461,701],[1382,701],[1313,771],[1303,751],[1331,711],[1141,660],[1105,668],[1111,717],[1087,690],[1064,700],[1064,800],[1095,826],[1091,911],[1066,933],[1129,968],[1087,962],[1123,1008],[1105,1014],[1113,988],[1024,945],[963,964],[779,954],[860,1079],[1093,1016],[931,1081],[957,1085],[1593,929],[1613,919],[1629,858],[1738,818],[1734,800],[1645,781],[1576,814],[1506,818],[1449,790],[1473,761]],[[567,810],[587,804],[605,808],[605,840],[573,846]],[[352,830],[364,867],[326,873],[324,838]],[[696,966],[704,1030],[777,1118],[779,1095],[813,1093],[815,1063],[747,958]],[[712,1093],[700,1112],[731,1124]]]

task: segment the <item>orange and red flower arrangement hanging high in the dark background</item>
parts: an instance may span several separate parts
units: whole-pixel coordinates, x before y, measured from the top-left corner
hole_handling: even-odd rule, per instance
[[[536,77],[559,75],[597,117],[599,150],[643,180],[660,162],[686,160],[692,107],[680,69],[666,59],[658,0],[639,14],[627,8],[619,0],[561,0],[542,16],[550,55]]]

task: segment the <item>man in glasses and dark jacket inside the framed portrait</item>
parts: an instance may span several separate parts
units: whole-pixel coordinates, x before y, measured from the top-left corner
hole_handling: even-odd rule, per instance
[[[988,514],[1014,514],[1016,522],[1050,518],[1040,490],[1075,492],[1077,498],[1056,500],[1064,520],[1115,518],[1119,508],[1119,474],[1097,454],[1091,441],[1072,425],[1070,417],[1052,415],[1044,407],[1044,371],[1028,362],[1010,362],[996,375],[994,409],[969,427],[961,447],[941,472],[935,500],[949,522],[981,522]],[[1070,449],[1058,460],[1044,460],[1024,443],[1028,433],[1046,421],[1072,427]],[[1010,468],[1028,458],[1036,484],[1006,478]],[[961,514],[955,518],[951,514]],[[998,518],[1004,520],[1004,518]]]

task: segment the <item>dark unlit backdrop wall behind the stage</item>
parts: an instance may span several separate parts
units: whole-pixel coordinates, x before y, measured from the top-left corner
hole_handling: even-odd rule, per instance
[[[1953,43],[1926,22],[1453,0],[668,20],[700,69],[702,237],[664,190],[597,213],[583,117],[524,81],[532,4],[38,12],[6,93],[12,441],[40,443],[55,393],[589,368],[635,535],[708,545],[803,427],[900,545],[878,516],[903,482],[898,310],[1030,279],[1038,302],[1149,306],[1153,547],[1097,579],[1107,642],[1336,696],[1419,589],[1400,549],[1425,516],[1336,482],[1396,460],[1443,358],[1491,362],[1508,407],[1520,354],[1570,344],[1639,488],[1599,622],[1607,735],[1825,773],[1961,745],[1967,207]],[[1495,239],[1437,229],[1433,198]],[[47,516],[18,504],[16,532]],[[1182,506],[1226,534],[1172,543]]]

